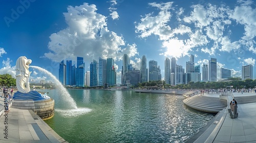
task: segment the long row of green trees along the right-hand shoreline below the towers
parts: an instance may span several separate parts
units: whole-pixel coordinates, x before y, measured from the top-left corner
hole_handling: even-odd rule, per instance
[[[158,86],[164,89],[219,89],[219,88],[230,88],[227,86],[233,86],[234,89],[242,89],[242,88],[255,88],[256,87],[256,79],[246,79],[242,80],[241,78],[230,78],[225,82],[189,82],[188,84],[178,84],[178,85],[170,85],[166,84],[165,81],[149,81],[139,83],[139,88],[150,88],[154,86]]]

